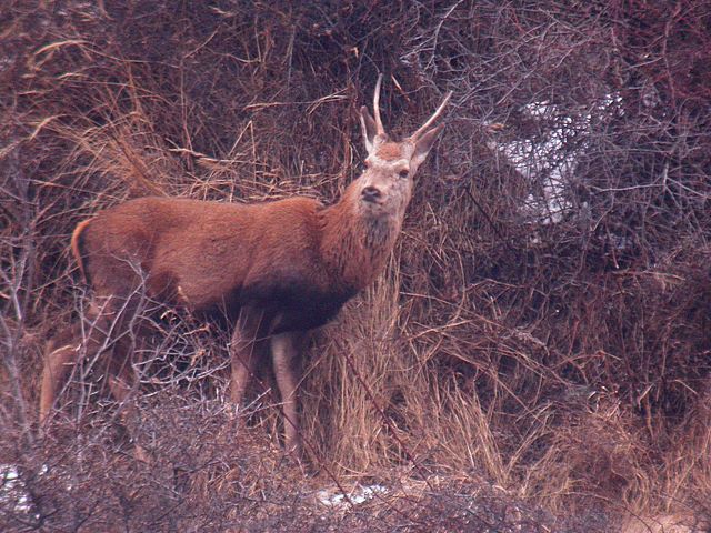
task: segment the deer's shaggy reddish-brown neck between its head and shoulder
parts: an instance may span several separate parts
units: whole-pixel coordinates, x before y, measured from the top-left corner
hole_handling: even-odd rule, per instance
[[[374,217],[359,202],[358,191],[349,188],[321,212],[321,258],[334,283],[354,292],[383,270],[403,219],[401,212]]]

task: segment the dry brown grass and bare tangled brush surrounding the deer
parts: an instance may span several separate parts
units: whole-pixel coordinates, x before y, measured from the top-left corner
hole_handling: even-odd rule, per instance
[[[6,0],[0,456],[28,495],[0,529],[703,531],[710,26],[702,1]],[[303,362],[318,475],[276,449],[269,370],[238,431],[223,334],[170,310],[131,405],[88,365],[38,436],[76,223],[146,194],[337,198],[379,71],[395,133],[454,94],[388,274]],[[356,483],[389,492],[316,501]]]

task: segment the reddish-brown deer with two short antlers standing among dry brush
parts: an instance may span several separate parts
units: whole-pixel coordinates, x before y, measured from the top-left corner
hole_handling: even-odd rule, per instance
[[[144,197],[81,221],[71,254],[92,296],[86,315],[46,350],[39,420],[43,426],[82,358],[106,356],[110,393],[122,402],[137,383],[131,354],[109,335],[136,310],[137,288],[150,298],[190,312],[219,311],[233,328],[229,344],[229,401],[241,405],[254,365],[264,352],[283,412],[283,443],[299,457],[301,435],[294,371],[311,330],[333,319],[343,304],[384,270],[401,231],[414,188],[443,123],[433,125],[450,100],[411,135],[391,140],[380,118],[382,74],[373,115],[363,105],[360,125],[363,172],[340,200],[324,205],[292,197],[259,203]],[[260,350],[259,345],[266,345]]]

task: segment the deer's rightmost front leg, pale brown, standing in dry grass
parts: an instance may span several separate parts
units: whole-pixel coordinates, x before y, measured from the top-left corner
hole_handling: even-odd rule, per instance
[[[277,386],[281,394],[284,415],[284,447],[297,456],[301,455],[301,438],[299,426],[299,406],[297,388],[299,380],[294,369],[298,363],[302,333],[279,333],[271,338],[271,356],[277,378]]]

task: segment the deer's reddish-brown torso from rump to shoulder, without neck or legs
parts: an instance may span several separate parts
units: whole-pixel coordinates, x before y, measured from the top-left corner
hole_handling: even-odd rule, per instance
[[[329,312],[326,301],[347,298],[333,294],[343,291],[320,257],[322,209],[307,198],[261,204],[138,199],[80,224],[74,253],[99,295],[127,296],[144,283],[150,296],[196,311],[289,310],[313,301],[332,315],[338,309]]]

